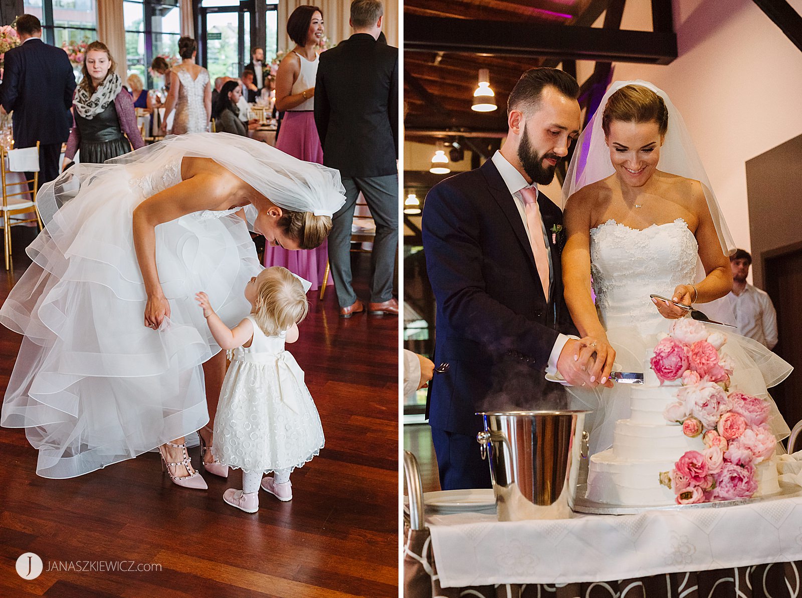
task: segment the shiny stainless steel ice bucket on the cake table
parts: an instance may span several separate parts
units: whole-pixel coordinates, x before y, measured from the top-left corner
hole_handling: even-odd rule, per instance
[[[490,464],[499,521],[568,519],[589,411],[483,412],[476,440]]]

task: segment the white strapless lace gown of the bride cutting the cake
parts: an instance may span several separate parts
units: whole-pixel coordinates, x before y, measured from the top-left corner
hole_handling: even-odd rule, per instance
[[[616,350],[618,370],[642,372],[646,351],[654,348],[658,334],[671,324],[650,299],[656,293],[671,297],[677,285],[695,280],[699,247],[685,220],[654,224],[642,230],[608,220],[590,230],[590,271],[599,320]],[[704,310],[703,305],[699,305]],[[732,385],[748,394],[770,398],[767,387],[781,382],[791,366],[763,345],[738,334],[727,335],[726,353],[735,363]],[[583,390],[569,387],[573,406],[590,409],[585,429],[590,451],[603,451],[613,443],[615,422],[630,416],[631,386]],[[774,402],[772,401],[772,406]],[[772,429],[778,436],[789,431],[773,406]]]

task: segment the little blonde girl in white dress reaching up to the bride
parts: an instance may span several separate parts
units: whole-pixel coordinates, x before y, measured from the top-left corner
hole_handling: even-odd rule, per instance
[[[290,270],[262,270],[245,285],[253,309],[229,329],[214,313],[206,293],[198,304],[214,340],[235,349],[225,374],[213,454],[220,462],[242,469],[242,490],[229,488],[223,500],[248,513],[259,510],[259,486],[279,500],[293,497],[290,472],[302,467],[323,447],[318,410],[303,381],[303,370],[284,350],[298,340],[298,322],[306,317],[301,279]],[[273,477],[261,476],[273,471]]]

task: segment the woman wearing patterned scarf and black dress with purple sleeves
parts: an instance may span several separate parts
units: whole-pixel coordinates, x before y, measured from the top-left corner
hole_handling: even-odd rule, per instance
[[[87,46],[81,70],[83,79],[73,98],[73,125],[64,168],[78,150],[81,162],[101,164],[131,152],[132,147],[144,146],[131,95],[115,73],[114,59],[106,44],[91,42]]]

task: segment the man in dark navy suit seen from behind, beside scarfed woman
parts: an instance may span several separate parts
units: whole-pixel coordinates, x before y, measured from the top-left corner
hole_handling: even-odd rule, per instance
[[[3,111],[14,111],[14,147],[39,142],[42,185],[59,176],[61,144],[72,125],[75,75],[67,53],[42,41],[42,24],[33,14],[17,19],[17,33],[22,45],[6,52],[0,101]]]

